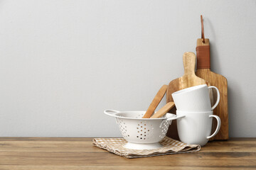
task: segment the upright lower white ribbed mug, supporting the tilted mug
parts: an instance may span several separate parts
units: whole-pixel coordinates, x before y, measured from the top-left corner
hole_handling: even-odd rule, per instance
[[[178,137],[187,144],[206,145],[210,137],[214,137],[220,130],[220,118],[213,115],[213,111],[208,112],[183,112],[176,111],[177,117],[184,116],[177,120]],[[212,120],[217,120],[217,128],[213,135]]]

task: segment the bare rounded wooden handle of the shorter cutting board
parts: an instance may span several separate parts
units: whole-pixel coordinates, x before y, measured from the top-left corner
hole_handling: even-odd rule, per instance
[[[196,55],[193,52],[185,52],[183,55],[184,76],[195,75]]]

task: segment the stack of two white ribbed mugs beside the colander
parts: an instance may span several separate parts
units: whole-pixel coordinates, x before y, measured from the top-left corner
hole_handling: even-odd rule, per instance
[[[213,107],[210,106],[209,89],[217,91],[217,100]],[[177,120],[180,140],[188,144],[206,145],[208,139],[220,130],[220,118],[213,115],[213,109],[220,101],[220,92],[217,87],[208,87],[206,84],[192,86],[176,91],[171,96],[177,108],[176,115],[182,117]],[[210,135],[212,118],[216,118],[217,128],[213,135]]]

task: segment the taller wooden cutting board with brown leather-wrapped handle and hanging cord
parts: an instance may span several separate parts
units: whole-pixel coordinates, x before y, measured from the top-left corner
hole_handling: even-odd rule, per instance
[[[202,38],[197,40],[197,70],[196,75],[206,79],[212,86],[216,86],[220,91],[220,102],[213,110],[214,115],[218,115],[221,120],[220,131],[212,140],[228,140],[228,81],[220,74],[210,71],[210,41],[204,38],[203,16],[201,16]],[[217,94],[213,91],[214,101]],[[216,127],[216,121],[213,120],[213,130]]]

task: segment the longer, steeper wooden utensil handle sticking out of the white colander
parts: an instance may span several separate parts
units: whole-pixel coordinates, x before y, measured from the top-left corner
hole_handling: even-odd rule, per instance
[[[142,118],[150,118],[150,116],[154,113],[156,110],[156,107],[159,105],[161,99],[164,97],[164,94],[166,94],[167,85],[164,84],[161,86],[161,89],[157,92],[156,96],[154,97],[153,101],[149,105],[149,108],[146,110],[146,113]]]

